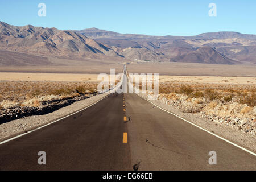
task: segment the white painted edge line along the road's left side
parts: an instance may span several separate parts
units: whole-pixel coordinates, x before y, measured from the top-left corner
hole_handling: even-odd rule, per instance
[[[63,118],[60,118],[60,119],[57,119],[56,121],[53,121],[53,122],[47,123],[46,125],[43,125],[43,126],[37,127],[37,128],[36,128],[36,129],[34,129],[34,130],[27,131],[26,133],[22,133],[22,134],[20,134],[20,135],[17,135],[16,137],[13,137],[13,138],[9,138],[9,139],[7,139],[7,140],[4,140],[3,142],[0,142],[0,145],[1,145],[1,144],[3,144],[3,143],[10,142],[11,140],[14,140],[14,139],[16,139],[16,138],[22,137],[23,135],[26,135],[26,134],[28,134],[28,133],[32,133],[33,131],[36,131],[36,130],[42,129],[43,127],[46,127],[46,126],[51,125],[51,124],[53,124],[53,123],[55,123],[55,122],[57,122],[57,121],[60,121],[60,120],[65,119],[65,118],[67,118],[67,117],[70,117],[71,115],[77,114],[77,113],[79,113],[79,112],[81,112],[81,111],[83,111],[83,110],[87,109],[88,107],[93,106],[94,104],[96,104],[96,103],[100,102],[101,100],[103,100],[104,98],[106,98],[106,97],[108,97],[108,96],[110,96],[110,94],[108,94],[107,96],[105,96],[105,97],[101,98],[101,99],[100,99],[100,100],[98,100],[97,102],[94,102],[93,104],[91,104],[91,105],[89,105],[89,106],[85,107],[84,109],[81,109],[81,110],[76,111],[75,113],[72,113],[72,114],[66,115],[66,116],[65,116],[65,117],[63,117]]]

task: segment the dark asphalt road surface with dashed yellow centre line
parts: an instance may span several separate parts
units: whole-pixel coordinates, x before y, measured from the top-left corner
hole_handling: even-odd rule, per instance
[[[46,165],[38,164],[39,151]],[[209,151],[216,151],[216,165]],[[117,93],[1,144],[0,164],[0,170],[256,170],[254,155],[136,94]]]

